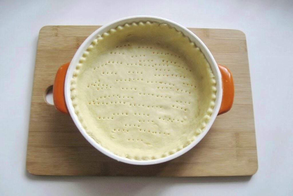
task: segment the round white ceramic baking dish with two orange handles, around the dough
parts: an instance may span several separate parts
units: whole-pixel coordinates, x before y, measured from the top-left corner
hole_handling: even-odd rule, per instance
[[[112,28],[116,28],[119,25],[124,25],[125,23],[133,23],[139,21],[150,21],[150,22],[158,22],[158,23],[166,23],[171,27],[176,28],[176,30],[181,31],[185,36],[187,36],[192,42],[200,48],[202,53],[205,55],[207,61],[209,62],[212,72],[214,73],[215,79],[217,81],[217,93],[216,93],[216,100],[215,106],[211,115],[211,119],[208,122],[207,126],[203,130],[203,132],[197,136],[197,138],[190,143],[188,146],[183,148],[180,151],[177,151],[174,154],[169,156],[154,159],[154,160],[133,160],[124,157],[120,157],[115,155],[114,153],[108,151],[107,149],[103,148],[98,144],[91,136],[89,136],[85,129],[82,127],[80,121],[78,120],[77,115],[74,112],[74,107],[72,106],[71,98],[70,98],[70,80],[73,76],[73,72],[79,59],[82,57],[84,51],[91,45],[92,41],[97,38],[98,35],[102,35],[103,33],[109,31]],[[234,84],[231,72],[222,65],[217,65],[216,61],[214,60],[213,55],[207,48],[207,46],[190,30],[181,26],[178,23],[173,21],[167,20],[165,18],[155,17],[155,16],[131,16],[127,18],[121,18],[116,21],[113,21],[107,25],[104,25],[98,28],[95,32],[93,32],[86,40],[81,44],[79,49],[76,51],[73,59],[70,63],[66,63],[62,65],[59,70],[57,71],[54,86],[53,86],[53,98],[54,98],[54,105],[57,110],[70,114],[71,118],[73,119],[75,125],[81,132],[81,134],[86,138],[86,140],[91,143],[96,149],[100,152],[104,153],[105,155],[124,163],[135,164],[135,165],[151,165],[166,162],[168,160],[172,160],[187,151],[193,148],[200,140],[207,134],[209,129],[211,128],[212,124],[214,123],[217,115],[223,114],[229,111],[233,104],[234,99]]]

